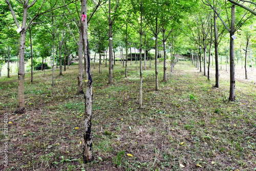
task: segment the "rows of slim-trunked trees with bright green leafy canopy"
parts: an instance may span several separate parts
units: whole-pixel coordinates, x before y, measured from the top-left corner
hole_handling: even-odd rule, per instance
[[[242,4],[243,6],[241,6],[241,8],[236,8],[234,4],[237,2],[231,0],[5,0],[5,2],[6,4],[1,3],[1,7],[3,8],[1,8],[0,28],[1,32],[3,30],[4,34],[2,34],[0,38],[1,40],[5,40],[8,46],[2,43],[0,53],[10,54],[10,49],[14,51],[14,49],[19,47],[18,52],[14,51],[19,54],[17,113],[25,112],[24,66],[26,54],[30,53],[31,58],[31,81],[33,81],[33,56],[35,54],[40,56],[42,63],[46,56],[52,56],[52,86],[54,86],[55,78],[55,59],[56,66],[58,66],[58,60],[55,54],[59,58],[59,75],[62,75],[62,51],[64,51],[65,62],[66,56],[70,53],[75,52],[78,55],[77,92],[84,94],[86,103],[86,126],[84,132],[84,142],[86,145],[84,146],[83,153],[84,162],[91,162],[93,160],[91,140],[93,84],[91,77],[90,49],[95,53],[99,53],[99,72],[101,72],[101,54],[102,52],[104,53],[104,51],[109,52],[109,84],[113,83],[115,62],[113,58],[115,58],[116,49],[120,47],[119,49],[125,52],[125,59],[123,57],[123,65],[125,63],[125,77],[127,77],[128,72],[128,50],[130,49],[131,52],[132,47],[139,49],[139,106],[142,108],[142,68],[144,68],[144,70],[146,69],[145,60],[147,51],[155,49],[155,90],[159,90],[158,56],[162,54],[161,52],[163,52],[162,59],[164,62],[163,81],[167,80],[167,59],[171,63],[170,66],[173,67],[178,60],[176,54],[181,51],[189,51],[191,53],[191,60],[193,62],[196,61],[194,63],[196,63],[196,66],[200,66],[200,72],[203,72],[205,76],[207,67],[209,79],[210,54],[212,48],[215,48],[215,87],[219,88],[218,50],[219,45],[222,44],[225,47],[225,52],[228,49],[222,42],[225,42],[223,39],[225,39],[225,35],[229,33],[229,100],[233,101],[235,100],[234,39],[236,39],[234,33],[238,33],[236,34],[238,37],[240,35],[242,37],[243,35],[246,38],[246,44],[244,46],[246,47],[245,69],[247,67],[248,48],[254,48],[253,46],[255,45],[255,42],[250,42],[253,36],[252,30],[254,29],[253,14],[251,14],[253,10],[248,9],[248,7],[255,4],[247,1],[242,1],[244,4]],[[5,20],[3,17],[7,19]],[[22,25],[19,25],[20,23],[22,23]],[[16,34],[14,25],[16,25],[19,34]],[[28,31],[30,33],[29,38],[27,36]],[[19,39],[19,43],[17,39]],[[27,43],[27,45],[26,40],[27,42],[29,40],[29,44]],[[108,44],[108,46],[106,46],[106,44]],[[30,49],[28,47],[30,47]],[[240,49],[241,47],[242,44]],[[142,50],[144,50],[145,55],[144,67],[142,67]],[[200,51],[200,53],[198,53],[198,51]],[[195,56],[197,57],[195,58]],[[3,61],[4,55],[2,65]],[[82,64],[83,61],[84,66]],[[206,66],[207,62],[208,66]],[[86,80],[84,85],[82,81],[83,77]],[[85,89],[83,89],[83,86]]]

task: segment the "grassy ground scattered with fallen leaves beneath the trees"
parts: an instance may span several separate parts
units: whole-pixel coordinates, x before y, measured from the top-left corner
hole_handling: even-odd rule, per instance
[[[152,61],[152,64],[154,62]],[[159,80],[163,77],[159,64]],[[223,67],[223,66],[222,66]],[[51,70],[26,74],[26,113],[15,114],[16,76],[1,78],[0,123],[8,114],[8,167],[0,170],[256,170],[256,72],[236,80],[236,101],[229,102],[228,72],[220,89],[188,61],[179,61],[155,91],[154,66],[143,71],[143,108],[139,109],[139,72],[129,77],[116,62],[92,68],[92,140],[95,160],[82,163],[84,98],[76,94],[77,64],[51,86]],[[255,69],[254,69],[255,70]],[[239,72],[239,71],[237,71]],[[169,74],[169,73],[168,73]],[[253,75],[254,74],[254,75]],[[3,131],[2,131],[3,133]],[[132,156],[128,156],[131,154]]]

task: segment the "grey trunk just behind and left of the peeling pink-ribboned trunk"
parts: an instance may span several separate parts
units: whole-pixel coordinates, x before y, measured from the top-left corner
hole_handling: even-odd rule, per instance
[[[82,75],[83,75],[83,68],[82,68],[82,31],[80,29],[79,40],[78,40],[78,75],[77,75],[77,93],[78,94],[83,94]]]

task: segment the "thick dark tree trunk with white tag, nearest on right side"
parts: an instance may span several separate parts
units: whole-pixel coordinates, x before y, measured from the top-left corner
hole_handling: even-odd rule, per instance
[[[229,90],[229,101],[236,100],[234,93],[235,79],[234,79],[234,39],[231,37],[234,35],[234,8],[235,5],[231,6],[231,28],[230,28],[230,90]]]

